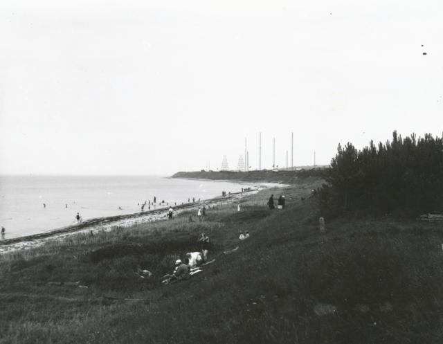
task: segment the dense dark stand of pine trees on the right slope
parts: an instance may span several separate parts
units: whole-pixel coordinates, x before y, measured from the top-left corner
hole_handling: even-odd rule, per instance
[[[401,138],[356,150],[338,145],[319,190],[320,207],[328,212],[369,210],[374,213],[441,210],[443,140],[431,134]]]

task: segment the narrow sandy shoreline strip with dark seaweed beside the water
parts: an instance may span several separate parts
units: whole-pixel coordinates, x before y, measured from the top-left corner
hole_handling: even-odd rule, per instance
[[[228,181],[230,182],[230,181]],[[241,182],[239,182],[241,183]],[[254,183],[249,183],[254,184]],[[203,199],[200,202],[184,203],[178,206],[172,206],[174,212],[179,214],[182,211],[197,209],[200,206],[213,206],[232,203],[237,199],[242,199],[248,194],[254,194],[271,187],[284,187],[283,184],[278,183],[255,183],[254,188],[246,192],[234,192],[227,194],[225,197],[218,196],[210,199]],[[10,239],[0,240],[0,255],[3,253],[10,253],[13,251],[24,250],[27,248],[37,247],[49,240],[59,240],[68,237],[69,235],[77,233],[96,233],[98,231],[109,231],[114,228],[129,228],[136,224],[143,224],[146,222],[159,221],[166,218],[168,206],[155,210],[147,210],[144,212],[134,212],[132,214],[115,215],[110,217],[96,217],[88,219],[82,224],[75,224],[72,226],[65,226],[62,228],[55,228],[44,233],[37,233],[32,235],[24,235],[21,237],[12,237]]]

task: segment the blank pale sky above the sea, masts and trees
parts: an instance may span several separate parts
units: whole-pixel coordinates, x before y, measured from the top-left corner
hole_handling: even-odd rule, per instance
[[[0,2],[0,174],[328,164],[443,132],[441,0]],[[423,53],[426,53],[424,55]]]

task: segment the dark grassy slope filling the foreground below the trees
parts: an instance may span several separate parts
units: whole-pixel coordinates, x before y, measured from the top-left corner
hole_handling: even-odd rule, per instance
[[[266,209],[268,190],[203,223],[183,214],[2,257],[0,343],[441,343],[441,224],[336,219],[320,235],[316,200],[298,201],[310,187],[284,190],[286,210]],[[215,264],[159,284],[202,230]],[[76,280],[89,289],[47,284]]]

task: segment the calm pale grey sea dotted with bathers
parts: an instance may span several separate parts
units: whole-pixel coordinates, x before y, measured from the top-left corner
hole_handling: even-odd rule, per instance
[[[0,176],[0,226],[6,228],[5,238],[20,237],[75,224],[77,212],[84,220],[123,215],[141,211],[154,196],[157,203],[178,205],[242,187],[159,176]]]

